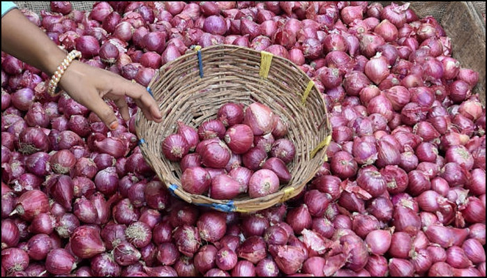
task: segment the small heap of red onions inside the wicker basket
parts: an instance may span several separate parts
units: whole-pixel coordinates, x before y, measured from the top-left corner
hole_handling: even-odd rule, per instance
[[[190,194],[231,200],[278,192],[291,180],[287,163],[296,148],[284,138],[288,126],[260,102],[228,102],[217,118],[192,128],[179,121],[177,133],[162,141],[163,156],[180,162],[181,186]]]

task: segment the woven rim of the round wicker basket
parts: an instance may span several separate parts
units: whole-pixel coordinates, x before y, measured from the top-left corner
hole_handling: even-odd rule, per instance
[[[201,48],[200,53],[202,55],[204,55],[205,52],[211,52],[214,49],[228,50],[228,52],[227,52],[228,54],[232,54],[232,52],[245,51],[245,52],[249,52],[250,54],[255,55],[256,57],[259,57],[259,59],[262,55],[262,52],[260,52],[260,51],[257,51],[255,49],[251,49],[248,47],[237,46],[237,45],[212,45],[209,47]],[[160,77],[161,72],[165,72],[165,70],[167,68],[171,68],[173,65],[177,65],[180,61],[185,61],[186,59],[190,58],[191,56],[195,56],[196,54],[197,54],[196,51],[186,53],[186,54],[180,56],[179,58],[175,59],[174,61],[171,61],[170,63],[166,63],[165,65],[160,67],[160,69],[156,71],[156,75],[153,77],[153,79],[149,83],[149,86],[147,87],[148,91],[151,92],[151,90],[150,90],[151,86],[161,78]],[[299,68],[297,65],[292,63],[292,61],[285,59],[283,57],[280,57],[280,56],[275,56],[275,55],[273,55],[272,59],[273,59],[273,63],[274,63],[274,59],[278,59],[279,61],[285,63],[285,65],[287,67],[292,67],[293,70],[298,70],[300,75],[303,75],[303,77],[306,77],[306,80],[308,80],[308,84],[309,84],[309,82],[313,82],[312,79],[310,79],[310,77],[308,77],[308,75],[306,75],[306,73],[303,70],[301,70],[301,68]],[[151,93],[153,93],[153,92],[151,92]],[[310,90],[310,94],[311,93],[321,95],[320,91],[318,91],[316,86],[314,86],[314,82],[313,82],[313,88],[311,88],[311,90]],[[298,95],[297,95],[297,98],[298,98]],[[329,114],[327,111],[327,105],[325,103],[324,98],[319,98],[319,99],[320,99],[321,105],[324,108],[324,111],[326,113],[326,116],[324,116],[324,123],[322,123],[321,128],[326,128],[327,129],[326,130],[327,131],[327,137],[331,137],[331,124],[329,123],[329,116],[328,116]],[[308,100],[309,100],[309,98],[308,98]],[[308,100],[306,100],[306,102]],[[158,103],[158,105],[162,106],[163,104]],[[137,112],[137,117],[136,117],[136,122],[135,122],[135,130],[136,130],[136,134],[137,134],[138,138],[142,137],[142,134],[141,134],[142,130],[140,128],[140,121],[147,121],[147,119],[145,119],[141,115],[142,114],[140,113],[140,111]],[[160,124],[163,124],[163,123],[160,123]],[[325,152],[326,148],[327,148],[327,144],[325,144],[325,146],[323,146],[321,148],[321,150],[319,150],[315,155],[315,157],[318,157],[321,164],[322,164],[322,162],[326,161],[326,152]],[[151,162],[147,159],[147,154],[146,154],[146,151],[148,151],[147,148],[145,148],[143,145],[141,145],[140,150],[142,151],[142,155],[144,155],[144,159],[147,161],[149,166],[151,166],[151,168],[154,169]],[[159,155],[159,157],[160,157],[160,160],[165,160],[165,158],[163,158],[161,155]],[[307,156],[307,160],[301,161],[300,163],[306,163],[306,162],[308,162],[308,163],[310,162],[310,155],[309,154]],[[305,177],[304,181],[302,182],[301,185],[294,185],[293,184],[293,185],[281,186],[280,190],[274,194],[269,194],[267,196],[254,198],[254,199],[250,199],[250,197],[249,197],[248,199],[244,199],[244,200],[219,200],[219,199],[212,199],[209,196],[198,195],[198,194],[189,194],[188,192],[184,192],[181,186],[171,184],[169,179],[166,178],[166,176],[165,176],[165,174],[167,174],[167,173],[158,173],[156,171],[156,175],[158,176],[158,178],[163,183],[165,183],[166,187],[170,190],[170,192],[173,195],[179,196],[181,199],[183,199],[184,201],[187,201],[188,203],[194,203],[194,204],[199,205],[199,206],[209,206],[209,207],[215,208],[217,210],[237,211],[237,212],[247,213],[247,212],[252,212],[255,210],[241,209],[241,208],[239,208],[239,206],[246,204],[246,203],[249,203],[249,202],[260,203],[262,205],[262,207],[258,209],[258,210],[260,210],[260,209],[264,209],[264,208],[269,208],[270,206],[274,206],[277,203],[281,203],[283,201],[286,201],[287,199],[291,199],[292,197],[296,196],[297,194],[299,194],[304,189],[304,186],[306,186],[306,184],[309,183],[309,181],[313,178],[313,176],[315,175],[315,173],[318,170],[319,170],[319,167],[316,167],[316,169],[313,170],[313,175]],[[296,189],[298,189],[298,187],[301,187],[301,188],[299,190],[296,190]],[[292,190],[290,190],[290,188],[292,188]],[[195,202],[195,196],[197,196],[198,199],[202,199],[206,202],[205,203]]]

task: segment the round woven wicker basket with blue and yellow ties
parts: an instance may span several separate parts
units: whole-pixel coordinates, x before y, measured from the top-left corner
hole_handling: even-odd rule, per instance
[[[303,190],[325,160],[324,148],[331,139],[326,105],[306,74],[287,59],[246,47],[216,45],[181,56],[160,68],[149,91],[163,112],[163,123],[137,117],[140,149],[170,192],[188,203],[217,210],[253,212],[269,208]],[[289,165],[292,180],[275,194],[250,199],[241,194],[234,200],[216,200],[188,194],[181,187],[178,162],[163,157],[161,142],[177,132],[177,121],[197,127],[216,118],[227,102],[249,105],[262,102],[290,123],[287,135],[296,146]]]

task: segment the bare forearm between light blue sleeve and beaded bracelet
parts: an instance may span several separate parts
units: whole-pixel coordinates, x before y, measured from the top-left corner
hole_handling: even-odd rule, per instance
[[[1,50],[47,75],[52,75],[66,57],[63,50],[17,9],[1,18]]]

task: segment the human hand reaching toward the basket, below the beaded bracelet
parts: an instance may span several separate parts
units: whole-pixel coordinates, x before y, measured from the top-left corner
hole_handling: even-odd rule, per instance
[[[128,121],[128,106],[125,96],[133,98],[149,121],[160,123],[162,116],[156,101],[140,84],[133,83],[108,70],[73,61],[59,82],[71,98],[80,102],[111,129],[117,128],[118,121],[112,108],[103,98],[114,100],[124,120]]]

